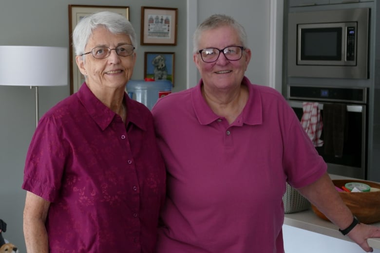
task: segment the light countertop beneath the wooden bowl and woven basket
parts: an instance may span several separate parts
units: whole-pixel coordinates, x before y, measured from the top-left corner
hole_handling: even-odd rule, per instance
[[[347,179],[346,177],[330,175],[331,179]],[[285,214],[284,224],[307,231],[319,233],[322,235],[328,235],[338,239],[351,241],[350,238],[341,234],[338,231],[338,227],[318,217],[312,210],[306,210],[303,212]],[[380,222],[373,223],[371,225],[380,227]],[[368,239],[368,244],[374,249],[380,249],[380,238],[370,238]]]

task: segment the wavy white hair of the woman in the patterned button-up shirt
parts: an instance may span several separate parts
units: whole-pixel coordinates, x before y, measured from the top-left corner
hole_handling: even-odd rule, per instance
[[[75,54],[84,54],[84,49],[95,28],[104,26],[113,34],[125,34],[131,39],[133,47],[137,49],[136,33],[133,26],[124,16],[114,12],[98,12],[82,18],[73,32]]]

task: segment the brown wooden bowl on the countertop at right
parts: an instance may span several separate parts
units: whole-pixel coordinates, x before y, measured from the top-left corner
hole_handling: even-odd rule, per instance
[[[380,184],[363,181],[363,180],[333,180],[335,186],[341,188],[348,182],[361,182],[368,184],[373,188],[380,189]],[[380,191],[376,192],[339,192],[343,202],[351,210],[351,212],[358,217],[360,222],[370,224],[380,221]],[[323,215],[313,204],[311,209],[314,213],[325,219],[329,220]]]

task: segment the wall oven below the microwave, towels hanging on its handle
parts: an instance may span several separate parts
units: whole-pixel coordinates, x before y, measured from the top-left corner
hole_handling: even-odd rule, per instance
[[[347,177],[366,179],[367,161],[367,88],[312,87],[288,85],[288,103],[298,118],[303,115],[303,102],[318,102],[323,118],[323,107],[340,104],[346,108],[342,156],[326,152],[325,144],[316,147],[328,165],[328,172]],[[323,120],[324,122],[324,120]],[[321,139],[326,129],[323,126]],[[326,142],[325,142],[326,143]]]

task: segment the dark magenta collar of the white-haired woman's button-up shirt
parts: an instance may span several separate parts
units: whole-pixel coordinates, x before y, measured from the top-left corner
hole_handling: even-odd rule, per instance
[[[116,113],[105,106],[88,88],[86,82],[82,84],[77,92],[79,101],[93,118],[95,123],[102,129],[106,129],[113,121]],[[126,92],[124,92],[124,101],[128,108],[127,122],[132,122],[137,127],[146,130],[145,119],[139,116],[139,108],[133,103]]]

